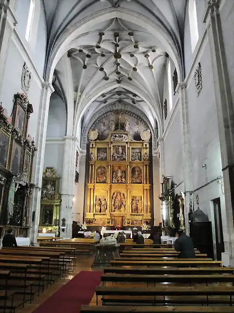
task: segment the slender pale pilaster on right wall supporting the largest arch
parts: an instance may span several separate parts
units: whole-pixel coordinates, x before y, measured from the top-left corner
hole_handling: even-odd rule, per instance
[[[182,130],[182,162],[183,162],[183,177],[184,177],[184,190],[187,191],[185,194],[184,203],[184,224],[186,227],[186,233],[189,234],[189,192],[193,190],[193,164],[192,164],[192,153],[191,153],[191,142],[189,132],[189,119],[188,119],[188,97],[187,97],[187,86],[184,83],[178,84],[178,92],[180,96],[180,121]]]

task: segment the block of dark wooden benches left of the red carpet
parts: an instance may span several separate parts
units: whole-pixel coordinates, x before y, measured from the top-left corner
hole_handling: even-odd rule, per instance
[[[0,311],[15,312],[76,266],[74,248],[0,249]]]

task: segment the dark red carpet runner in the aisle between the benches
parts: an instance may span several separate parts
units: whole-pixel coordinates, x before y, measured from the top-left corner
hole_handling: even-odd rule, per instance
[[[101,274],[100,271],[81,271],[33,313],[79,313],[80,306],[88,305],[92,300]]]

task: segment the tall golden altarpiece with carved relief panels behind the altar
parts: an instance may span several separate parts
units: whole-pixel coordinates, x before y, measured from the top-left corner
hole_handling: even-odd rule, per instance
[[[150,224],[150,136],[146,129],[141,132],[142,140],[135,141],[127,131],[113,131],[101,141],[96,140],[97,131],[89,132],[87,225]]]

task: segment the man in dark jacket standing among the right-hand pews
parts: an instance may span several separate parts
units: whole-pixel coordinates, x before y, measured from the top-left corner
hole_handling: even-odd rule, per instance
[[[180,252],[179,258],[193,259],[195,258],[194,243],[191,237],[187,236],[182,229],[176,233],[178,237],[175,241],[175,250]]]

